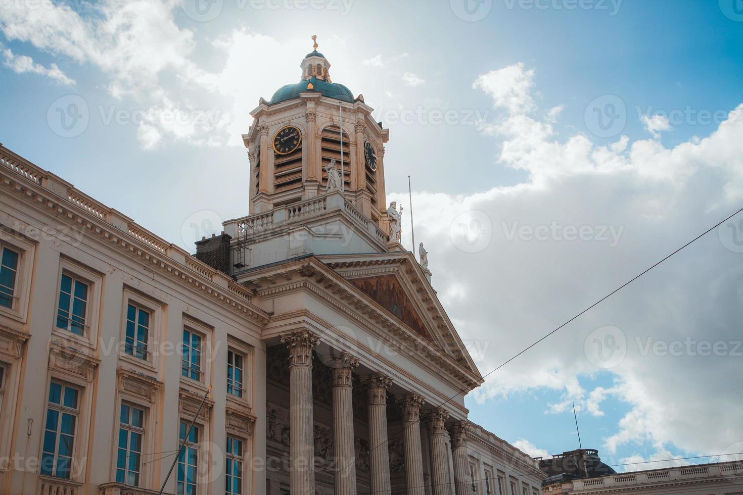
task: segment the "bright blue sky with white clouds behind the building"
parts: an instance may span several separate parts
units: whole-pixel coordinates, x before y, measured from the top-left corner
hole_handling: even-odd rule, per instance
[[[462,19],[464,1],[481,19]],[[192,0],[42,5],[0,9],[0,141],[187,249],[194,219],[246,214],[239,134],[260,96],[299,78],[317,34],[334,82],[390,128],[389,199],[406,201],[411,175],[434,286],[464,340],[484,345],[482,373],[743,206],[740,0],[217,0],[201,20]],[[85,114],[73,137],[60,101]],[[487,243],[463,244],[461,219],[482,220]],[[559,235],[509,235],[551,225]],[[590,235],[566,240],[565,226]],[[614,463],[743,451],[741,384],[720,382],[741,358],[640,345],[732,348],[733,230],[488,377],[467,399],[473,421],[559,453],[577,447],[575,401],[583,445]],[[610,369],[584,353],[606,327],[626,338]]]

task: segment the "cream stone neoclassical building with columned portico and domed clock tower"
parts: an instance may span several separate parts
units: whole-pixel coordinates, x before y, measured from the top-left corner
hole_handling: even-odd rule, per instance
[[[536,495],[331,81],[251,113],[250,209],[195,255],[0,147],[0,493]]]

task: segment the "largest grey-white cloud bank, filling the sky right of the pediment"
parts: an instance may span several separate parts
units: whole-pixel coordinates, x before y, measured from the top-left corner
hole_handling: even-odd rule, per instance
[[[504,72],[502,72],[504,71]],[[583,134],[557,139],[553,123],[528,115],[533,71],[513,65],[481,76],[476,88],[507,110],[482,130],[499,140],[499,164],[528,172],[528,181],[476,194],[414,194],[416,240],[429,250],[434,286],[465,341],[493,343],[478,362],[483,373],[541,338],[629,278],[673,252],[743,205],[743,104],[704,139],[672,148],[657,140],[621,137],[597,145]],[[405,200],[406,194],[390,194]],[[490,236],[481,251],[451,226],[459,215],[481,212],[481,222],[460,223],[470,237]],[[516,224],[544,226],[545,240],[508,232]],[[557,235],[551,235],[553,227]],[[565,228],[622,229],[616,246],[598,235],[565,240]],[[486,378],[478,401],[550,389],[563,396],[548,409],[602,416],[611,399],[628,407],[603,439],[617,449],[651,445],[669,451],[715,454],[743,439],[741,381],[734,355],[704,358],[642,353],[648,336],[663,342],[740,340],[743,266],[712,232],[658,266],[547,341]],[[730,234],[732,235],[732,234]],[[471,239],[470,239],[471,240]],[[403,243],[410,245],[409,232]],[[463,277],[462,274],[470,274]],[[466,298],[447,294],[452,284]],[[626,357],[609,370],[591,364],[584,341],[595,329],[620,328]],[[730,344],[732,348],[734,344]],[[598,373],[610,387],[590,387]],[[714,421],[710,421],[714,418]],[[743,450],[743,449],[739,449]]]

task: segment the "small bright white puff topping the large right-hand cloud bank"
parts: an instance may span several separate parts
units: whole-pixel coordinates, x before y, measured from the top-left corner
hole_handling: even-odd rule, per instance
[[[473,88],[492,96],[495,108],[505,108],[511,114],[526,113],[536,107],[531,96],[533,77],[533,69],[526,70],[519,62],[478,76]]]

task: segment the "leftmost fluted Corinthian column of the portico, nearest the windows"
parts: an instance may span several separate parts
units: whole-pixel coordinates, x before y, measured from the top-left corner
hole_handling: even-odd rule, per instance
[[[314,494],[312,349],[319,337],[299,330],[282,333],[281,341],[289,349],[289,488],[292,494]]]

